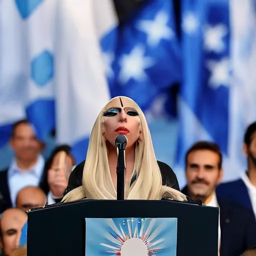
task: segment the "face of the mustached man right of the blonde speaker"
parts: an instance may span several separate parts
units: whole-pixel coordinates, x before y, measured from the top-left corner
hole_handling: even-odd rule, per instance
[[[189,196],[192,199],[207,199],[222,179],[222,170],[218,168],[219,155],[211,150],[192,151],[187,156],[186,179]]]

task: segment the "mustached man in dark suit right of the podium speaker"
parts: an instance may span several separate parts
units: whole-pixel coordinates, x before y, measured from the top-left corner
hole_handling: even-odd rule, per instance
[[[220,256],[238,256],[256,245],[256,221],[253,212],[215,193],[222,179],[222,154],[218,145],[199,141],[185,156],[187,185],[182,192],[208,206],[219,207]]]

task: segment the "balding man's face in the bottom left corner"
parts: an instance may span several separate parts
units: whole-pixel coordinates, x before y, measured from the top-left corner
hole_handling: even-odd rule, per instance
[[[1,247],[4,255],[18,248],[21,229],[26,222],[26,214],[19,209],[8,209],[1,217]]]

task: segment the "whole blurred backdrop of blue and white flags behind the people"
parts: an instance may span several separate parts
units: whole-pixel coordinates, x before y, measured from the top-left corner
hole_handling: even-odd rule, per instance
[[[255,67],[255,0],[0,0],[0,169],[23,118],[46,158],[67,143],[83,160],[98,112],[126,95],[180,187],[199,139],[220,146],[224,180],[234,179],[256,120]]]

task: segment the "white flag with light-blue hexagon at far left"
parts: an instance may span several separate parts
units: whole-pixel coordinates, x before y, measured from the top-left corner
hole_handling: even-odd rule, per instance
[[[0,1],[0,146],[22,118],[42,140],[54,127],[54,17],[55,0]]]

